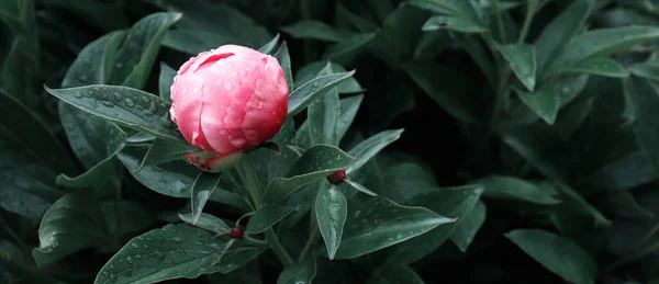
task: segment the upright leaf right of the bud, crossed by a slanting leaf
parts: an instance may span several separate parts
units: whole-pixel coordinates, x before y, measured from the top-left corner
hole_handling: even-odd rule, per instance
[[[323,70],[321,76],[331,75],[332,66]],[[338,146],[337,124],[339,116],[339,100],[336,88],[317,98],[309,105],[308,121],[309,134],[312,145],[327,144]]]

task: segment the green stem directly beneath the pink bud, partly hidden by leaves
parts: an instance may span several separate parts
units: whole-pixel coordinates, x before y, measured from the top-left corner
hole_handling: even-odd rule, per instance
[[[260,207],[260,183],[258,181],[258,175],[256,174],[256,169],[254,168],[254,161],[249,155],[243,157],[238,166],[238,171],[242,172],[241,177],[243,177],[245,190],[252,197],[255,207]],[[272,252],[279,258],[279,261],[281,261],[284,268],[295,263],[293,258],[291,258],[283,246],[281,246],[281,242],[279,242],[279,237],[277,237],[277,234],[275,234],[272,228],[267,229],[265,235],[267,243],[270,245],[270,249],[272,249]]]

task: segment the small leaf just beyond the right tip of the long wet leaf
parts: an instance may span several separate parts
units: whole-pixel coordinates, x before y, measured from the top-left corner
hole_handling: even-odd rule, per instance
[[[483,223],[485,223],[485,204],[479,201],[467,216],[458,220],[454,234],[450,235],[450,241],[458,246],[460,251],[466,252],[471,241],[473,241],[476,234],[483,226]]]

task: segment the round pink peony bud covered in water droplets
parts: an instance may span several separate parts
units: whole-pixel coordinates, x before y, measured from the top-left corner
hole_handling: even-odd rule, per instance
[[[286,120],[288,95],[275,57],[223,45],[181,66],[171,86],[169,112],[190,145],[226,157],[272,138]]]

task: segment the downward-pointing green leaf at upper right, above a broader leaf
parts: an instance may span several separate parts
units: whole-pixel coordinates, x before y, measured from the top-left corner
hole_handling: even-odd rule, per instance
[[[509,44],[499,46],[499,52],[509,61],[520,81],[532,92],[536,84],[535,47],[528,44]]]

